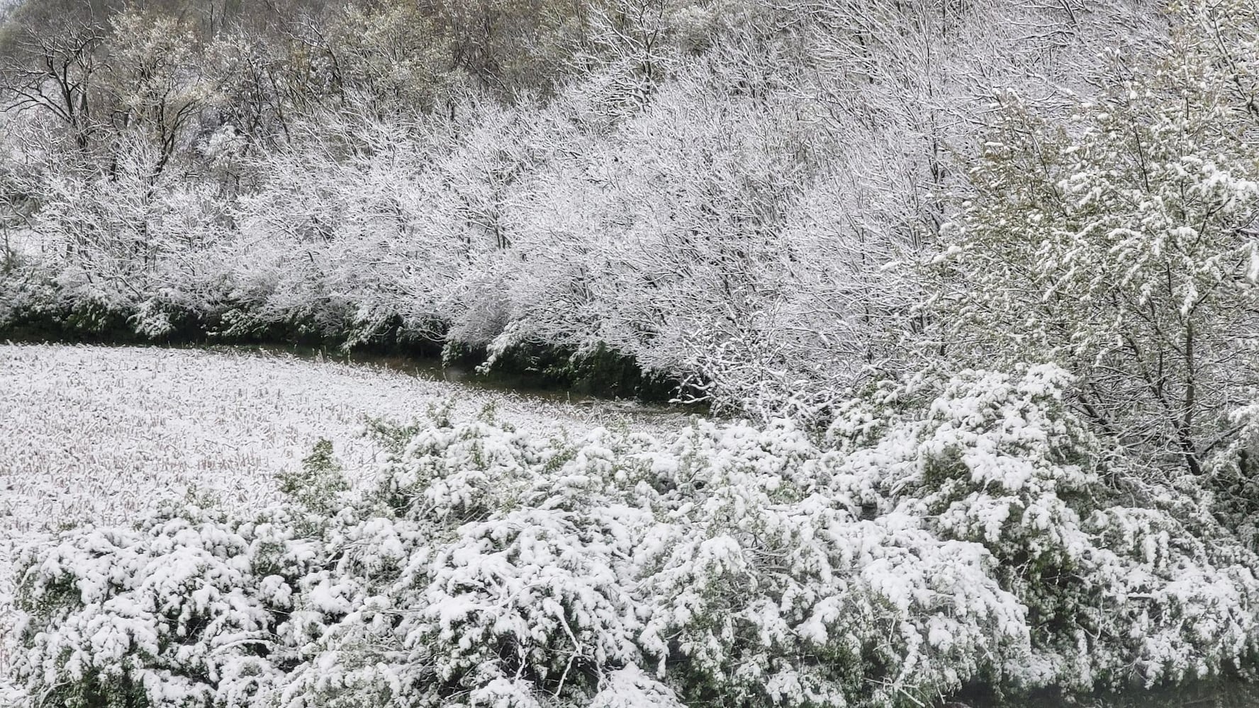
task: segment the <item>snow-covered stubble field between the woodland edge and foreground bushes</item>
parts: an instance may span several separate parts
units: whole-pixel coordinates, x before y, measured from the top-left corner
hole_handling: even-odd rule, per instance
[[[291,356],[0,345],[0,633],[15,551],[57,526],[123,522],[193,487],[262,507],[276,497],[274,475],[320,438],[361,479],[378,451],[361,435],[366,416],[408,421],[443,401],[457,411],[494,404],[531,430],[669,425],[612,404],[540,401]]]

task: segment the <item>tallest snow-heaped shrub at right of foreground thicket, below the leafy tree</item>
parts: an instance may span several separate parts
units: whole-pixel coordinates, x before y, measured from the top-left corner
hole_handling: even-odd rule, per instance
[[[1007,663],[1013,684],[1152,685],[1249,665],[1254,556],[1192,479],[1160,482],[1095,438],[1070,386],[1054,366],[915,380],[851,404],[830,434],[881,513],[998,561],[1032,644]]]

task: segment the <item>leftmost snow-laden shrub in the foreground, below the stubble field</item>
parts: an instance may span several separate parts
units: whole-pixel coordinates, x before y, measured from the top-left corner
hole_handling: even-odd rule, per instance
[[[184,504],[63,534],[24,560],[15,675],[59,705],[254,705],[286,678],[272,638],[320,561],[291,527]]]

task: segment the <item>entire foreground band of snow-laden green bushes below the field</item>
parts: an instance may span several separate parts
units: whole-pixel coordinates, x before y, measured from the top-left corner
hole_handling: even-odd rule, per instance
[[[258,518],[171,504],[23,563],[48,705],[924,705],[1249,675],[1254,556],[1059,370],[871,391],[822,436],[543,439],[486,414],[326,449]],[[326,446],[325,446],[326,448]],[[303,482],[305,480],[305,482]]]

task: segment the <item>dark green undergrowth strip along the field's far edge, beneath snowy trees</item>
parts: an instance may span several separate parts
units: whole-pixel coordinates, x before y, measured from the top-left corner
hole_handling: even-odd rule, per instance
[[[384,355],[441,358],[529,387],[608,397],[670,401],[684,394],[677,376],[645,370],[633,356],[599,345],[588,351],[519,342],[490,356],[483,346],[446,337],[447,323],[423,326],[392,316],[363,322],[337,312],[264,313],[232,293],[186,302],[165,292],[136,302],[69,292],[48,273],[0,277],[0,338],[33,342],[278,345],[339,347]],[[684,399],[685,400],[685,399]]]

